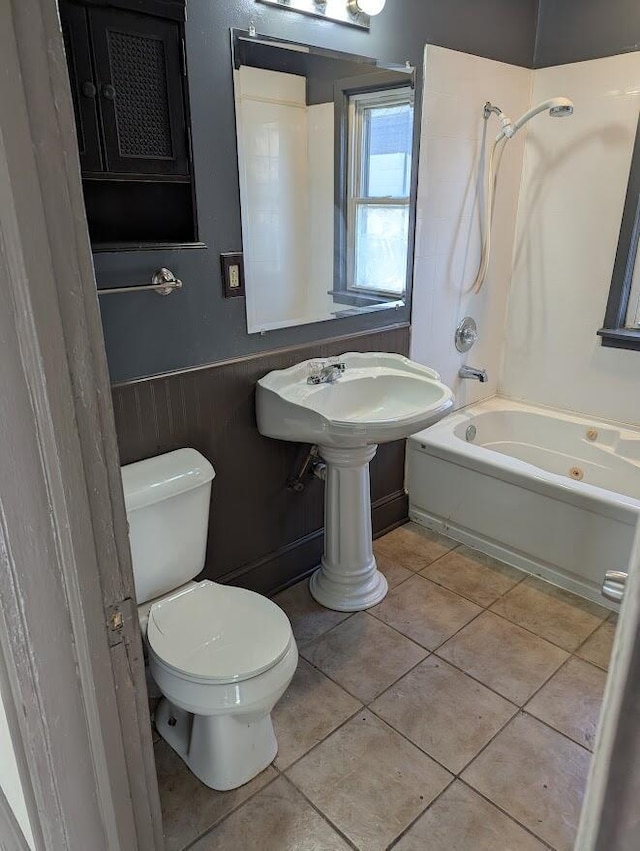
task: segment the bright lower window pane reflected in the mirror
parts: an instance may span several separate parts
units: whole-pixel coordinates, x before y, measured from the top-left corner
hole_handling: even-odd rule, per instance
[[[404,295],[408,236],[408,206],[359,205],[353,286]]]

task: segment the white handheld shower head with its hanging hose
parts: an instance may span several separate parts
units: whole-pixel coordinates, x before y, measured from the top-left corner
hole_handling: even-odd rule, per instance
[[[484,192],[484,218],[481,218],[480,220],[480,265],[478,267],[478,273],[476,275],[475,281],[473,282],[473,286],[471,288],[474,293],[479,293],[482,289],[484,279],[487,275],[487,269],[489,267],[489,259],[491,257],[491,228],[493,224],[493,209],[496,196],[496,188],[498,186],[498,173],[500,171],[500,163],[502,162],[502,155],[504,153],[504,149],[509,139],[512,139],[516,135],[518,130],[524,127],[524,125],[528,121],[530,121],[534,116],[539,115],[541,112],[548,112],[552,118],[564,118],[565,116],[571,115],[573,113],[573,103],[569,100],[569,98],[564,97],[557,97],[551,98],[550,100],[545,100],[542,103],[539,103],[537,106],[534,106],[533,109],[530,109],[528,112],[525,112],[524,115],[521,115],[515,123],[511,121],[511,119],[507,115],[504,114],[500,107],[495,106],[490,101],[487,101],[484,105],[484,109],[482,112],[484,120],[487,121],[491,115],[496,115],[498,117],[498,120],[500,121],[500,132],[496,136],[493,145],[491,146],[491,153],[489,154],[489,162],[487,165]]]

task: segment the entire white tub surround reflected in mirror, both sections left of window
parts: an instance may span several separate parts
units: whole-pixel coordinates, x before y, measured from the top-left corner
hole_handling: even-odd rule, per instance
[[[333,101],[307,106],[295,74],[234,73],[248,331],[330,319]]]

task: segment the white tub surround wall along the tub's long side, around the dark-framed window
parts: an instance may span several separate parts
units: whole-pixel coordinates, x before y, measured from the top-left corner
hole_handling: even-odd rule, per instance
[[[640,52],[536,71],[533,102],[552,95],[571,98],[575,112],[529,125],[501,392],[639,423],[640,353],[603,348],[596,331],[638,122]]]

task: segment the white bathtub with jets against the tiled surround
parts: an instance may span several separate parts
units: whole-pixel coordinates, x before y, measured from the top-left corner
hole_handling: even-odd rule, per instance
[[[609,608],[640,515],[640,428],[495,397],[409,438],[409,516]]]

